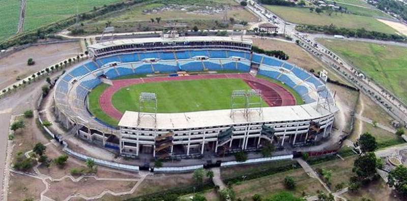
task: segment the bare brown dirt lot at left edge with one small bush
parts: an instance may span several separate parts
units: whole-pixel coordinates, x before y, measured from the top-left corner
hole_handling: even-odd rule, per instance
[[[24,78],[49,65],[81,52],[79,42],[32,46],[0,59],[0,88],[16,82],[17,76]],[[34,65],[28,66],[27,59]]]

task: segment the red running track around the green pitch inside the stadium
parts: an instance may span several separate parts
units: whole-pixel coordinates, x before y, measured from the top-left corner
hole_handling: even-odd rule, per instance
[[[137,78],[126,80],[113,80],[113,85],[103,91],[99,97],[99,105],[101,109],[110,117],[120,120],[123,116],[119,110],[114,108],[112,104],[112,96],[118,90],[135,84],[163,81],[181,81],[181,80],[199,80],[199,79],[222,79],[222,78],[240,78],[243,79],[251,88],[260,89],[261,96],[270,107],[275,106],[293,106],[296,105],[296,99],[283,87],[269,82],[264,79],[259,79],[251,76],[248,73],[244,74],[205,74],[191,75],[183,77],[150,77]]]

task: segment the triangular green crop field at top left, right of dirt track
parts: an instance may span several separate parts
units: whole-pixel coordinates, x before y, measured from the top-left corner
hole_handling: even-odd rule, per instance
[[[15,2],[19,2],[14,0]],[[30,0],[25,9],[24,30],[32,30],[79,13],[123,0]]]

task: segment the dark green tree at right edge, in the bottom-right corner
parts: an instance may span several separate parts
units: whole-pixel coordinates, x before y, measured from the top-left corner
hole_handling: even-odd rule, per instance
[[[401,196],[407,198],[407,167],[399,165],[390,171],[387,183],[390,187],[394,186]]]

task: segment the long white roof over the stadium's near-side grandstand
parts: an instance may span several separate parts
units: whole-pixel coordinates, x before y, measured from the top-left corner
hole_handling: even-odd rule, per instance
[[[181,129],[208,126],[222,126],[231,124],[243,124],[249,122],[277,122],[307,120],[323,117],[331,112],[319,108],[315,110],[316,103],[300,106],[264,107],[263,118],[256,111],[250,114],[249,121],[240,112],[235,113],[235,118],[230,117],[230,110],[212,110],[185,113],[157,113],[157,125],[150,116],[143,116],[137,125],[138,112],[126,111],[119,122],[119,126],[157,128],[157,129]],[[332,112],[336,112],[335,107]]]

